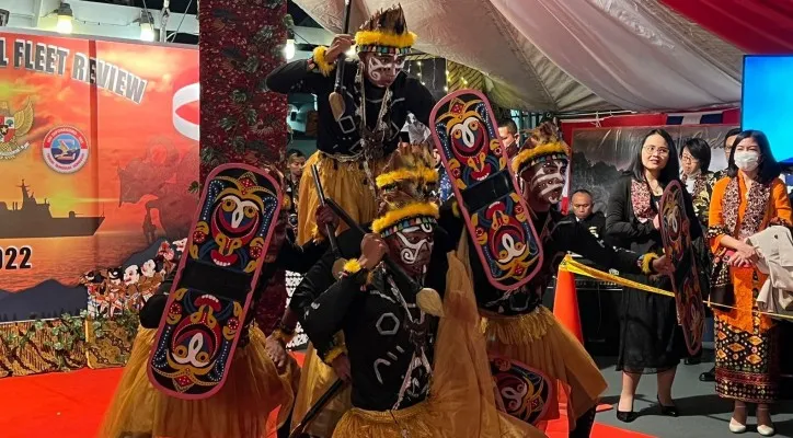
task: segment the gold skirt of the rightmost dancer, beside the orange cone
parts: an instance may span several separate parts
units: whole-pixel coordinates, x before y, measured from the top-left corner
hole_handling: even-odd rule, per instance
[[[542,306],[519,316],[483,316],[489,353],[521,361],[561,383],[573,430],[576,418],[595,407],[608,387],[584,346]]]

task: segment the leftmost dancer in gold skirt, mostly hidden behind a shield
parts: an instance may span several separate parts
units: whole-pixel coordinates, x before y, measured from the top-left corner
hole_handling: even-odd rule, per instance
[[[276,231],[280,230],[281,233],[286,228],[284,216],[276,224]],[[330,211],[319,210],[317,221],[332,224],[335,219]],[[286,242],[278,249],[273,246],[277,241],[284,240],[274,235],[268,253],[277,253],[278,257],[274,263],[265,265],[252,307],[255,307],[262,298],[273,272],[278,268],[304,272],[326,249],[325,243],[315,242],[303,247]],[[141,327],[138,330],[122,381],[105,414],[99,436],[102,438],[267,437],[276,427],[268,422],[273,410],[279,408],[278,425],[285,423],[290,412],[294,401],[294,379],[298,369],[294,361],[281,360],[277,356],[284,334],[275,333],[266,339],[262,330],[251,324],[255,312],[248,314],[243,332],[248,335],[240,341],[239,350],[229,368],[228,380],[217,394],[204,400],[186,401],[170,397],[151,385],[147,376],[149,355],[175,270],[141,310]],[[285,302],[278,306],[284,309]]]

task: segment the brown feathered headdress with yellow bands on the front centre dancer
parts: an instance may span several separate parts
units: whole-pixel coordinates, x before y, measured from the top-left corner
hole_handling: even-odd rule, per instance
[[[372,231],[387,237],[406,227],[436,222],[438,206],[432,194],[438,183],[438,171],[427,148],[399,147],[375,182],[380,209]]]

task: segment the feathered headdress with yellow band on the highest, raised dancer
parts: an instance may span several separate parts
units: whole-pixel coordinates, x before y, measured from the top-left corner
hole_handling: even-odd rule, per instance
[[[357,50],[376,54],[405,55],[416,41],[416,34],[407,31],[402,5],[377,11],[355,34]]]

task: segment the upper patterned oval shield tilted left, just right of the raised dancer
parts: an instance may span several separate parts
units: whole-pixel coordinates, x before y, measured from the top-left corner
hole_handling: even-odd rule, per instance
[[[526,285],[542,265],[542,246],[490,103],[460,90],[441,99],[429,120],[487,279],[501,290]]]

